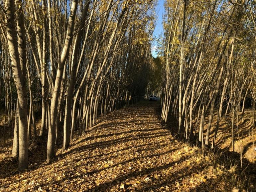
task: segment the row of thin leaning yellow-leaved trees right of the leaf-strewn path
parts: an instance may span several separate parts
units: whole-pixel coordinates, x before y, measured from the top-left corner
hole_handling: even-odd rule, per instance
[[[256,1],[167,0],[165,10],[161,116],[179,115],[186,139],[197,135],[210,145],[216,114],[214,147],[220,118],[230,112],[234,150],[235,119],[243,121],[245,103],[251,98],[254,106],[256,99]]]

